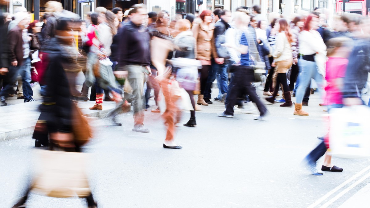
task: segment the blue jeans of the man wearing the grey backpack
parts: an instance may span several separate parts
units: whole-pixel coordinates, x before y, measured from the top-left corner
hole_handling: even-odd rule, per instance
[[[211,97],[211,87],[215,79],[217,79],[217,86],[219,89],[218,98],[221,99],[222,98],[221,95],[227,93],[228,81],[229,81],[227,68],[228,68],[227,62],[223,64],[216,64],[215,62],[212,61],[212,67],[209,70],[209,75],[208,75],[207,83],[205,86],[205,92],[204,92],[205,98]]]

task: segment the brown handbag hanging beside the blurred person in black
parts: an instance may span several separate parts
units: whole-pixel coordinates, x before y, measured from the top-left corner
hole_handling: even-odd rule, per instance
[[[91,126],[75,103],[72,105],[72,129],[75,144],[78,146],[83,146],[92,137]]]

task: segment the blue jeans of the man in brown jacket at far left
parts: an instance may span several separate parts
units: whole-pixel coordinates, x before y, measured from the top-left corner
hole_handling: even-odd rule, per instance
[[[30,100],[33,96],[31,88],[31,59],[26,58],[21,66],[9,67],[9,73],[7,75],[8,84],[4,86],[4,89],[0,92],[1,96],[7,96],[13,90],[13,84],[16,83],[18,75],[21,75],[23,82],[23,95],[24,100]]]

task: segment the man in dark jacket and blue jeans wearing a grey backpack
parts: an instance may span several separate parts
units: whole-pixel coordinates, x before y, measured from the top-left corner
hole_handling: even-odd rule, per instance
[[[228,10],[222,10],[221,13],[219,13],[219,20],[215,24],[215,30],[213,32],[213,35],[215,37],[215,42],[217,41],[217,38],[219,35],[225,35],[226,30],[230,27],[229,22],[231,20],[231,12]],[[221,45],[215,45],[217,48],[217,51]],[[213,81],[217,78],[217,85],[218,85],[218,96],[214,100],[218,100],[219,102],[223,102],[225,100],[225,93],[228,92],[228,81],[229,76],[227,73],[228,68],[228,62],[224,60],[223,63],[212,63],[211,71],[209,72],[209,76],[207,79],[207,83],[205,86],[205,92],[204,92],[204,100],[206,103],[211,104],[212,101],[209,100],[211,98],[211,87]]]

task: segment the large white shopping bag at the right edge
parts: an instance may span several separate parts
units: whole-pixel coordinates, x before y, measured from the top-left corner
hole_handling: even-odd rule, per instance
[[[330,110],[329,153],[334,157],[370,156],[370,108],[354,105]]]

